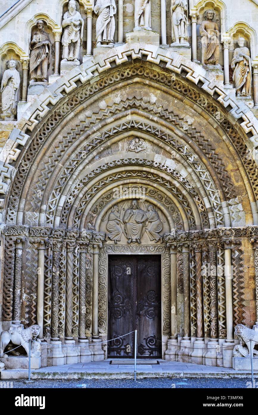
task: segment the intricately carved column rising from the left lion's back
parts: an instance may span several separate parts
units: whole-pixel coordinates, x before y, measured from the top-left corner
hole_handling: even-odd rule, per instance
[[[13,323],[21,323],[21,288],[22,288],[22,243],[23,238],[16,239],[15,242],[15,262],[14,262],[14,293],[13,293]]]

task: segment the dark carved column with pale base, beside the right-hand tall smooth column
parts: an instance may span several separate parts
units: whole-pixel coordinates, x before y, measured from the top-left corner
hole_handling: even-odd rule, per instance
[[[210,342],[207,343],[208,352],[205,355],[207,366],[217,366],[217,352],[219,352],[218,327],[218,300],[217,300],[217,240],[208,240],[210,259]]]

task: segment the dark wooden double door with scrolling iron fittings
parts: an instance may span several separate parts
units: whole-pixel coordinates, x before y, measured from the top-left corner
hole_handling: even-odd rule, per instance
[[[108,269],[108,357],[133,357],[137,329],[137,357],[160,358],[161,257],[109,255]]]

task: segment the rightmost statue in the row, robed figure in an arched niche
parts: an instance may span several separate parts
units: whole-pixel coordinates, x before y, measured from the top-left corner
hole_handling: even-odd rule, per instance
[[[239,38],[239,48],[234,50],[234,56],[231,62],[231,68],[234,69],[233,81],[235,83],[236,95],[251,95],[251,58],[249,49],[244,46],[245,39]]]

